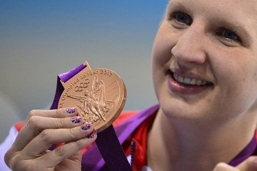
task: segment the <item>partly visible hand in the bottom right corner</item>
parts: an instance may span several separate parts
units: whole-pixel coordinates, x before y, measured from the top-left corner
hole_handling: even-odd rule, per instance
[[[226,163],[218,163],[213,171],[251,171],[257,170],[257,156],[250,156],[236,167],[232,167]]]

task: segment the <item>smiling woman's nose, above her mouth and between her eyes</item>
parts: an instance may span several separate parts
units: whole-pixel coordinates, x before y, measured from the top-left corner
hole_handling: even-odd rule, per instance
[[[181,33],[176,45],[171,49],[178,65],[192,69],[205,62],[207,54],[204,51],[204,36],[204,31],[193,25]]]

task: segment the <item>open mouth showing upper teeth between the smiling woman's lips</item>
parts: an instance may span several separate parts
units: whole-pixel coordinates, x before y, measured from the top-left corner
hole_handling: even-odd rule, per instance
[[[178,74],[173,73],[171,70],[167,71],[167,75],[170,75],[170,77],[172,77],[174,81],[181,84],[182,86],[202,86],[202,87],[213,86],[212,82],[204,81],[196,78],[185,78]]]

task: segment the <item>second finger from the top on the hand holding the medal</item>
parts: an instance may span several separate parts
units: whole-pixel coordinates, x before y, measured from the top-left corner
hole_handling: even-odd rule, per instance
[[[12,148],[16,151],[22,150],[44,129],[72,128],[83,123],[84,120],[79,116],[65,118],[32,116],[21,129]]]

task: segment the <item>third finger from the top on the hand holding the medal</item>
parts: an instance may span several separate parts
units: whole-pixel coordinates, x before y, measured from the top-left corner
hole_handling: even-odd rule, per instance
[[[31,140],[23,151],[29,156],[38,156],[53,144],[76,141],[90,135],[92,131],[93,126],[89,123],[70,129],[45,129]]]

